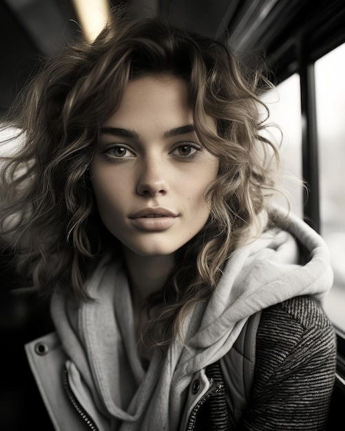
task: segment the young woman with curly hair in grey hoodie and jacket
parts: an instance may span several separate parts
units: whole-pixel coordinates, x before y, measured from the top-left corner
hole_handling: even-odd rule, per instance
[[[56,332],[25,348],[56,430],[325,429],[332,271],[271,202],[265,83],[120,10],[25,94],[1,226],[51,296]]]

